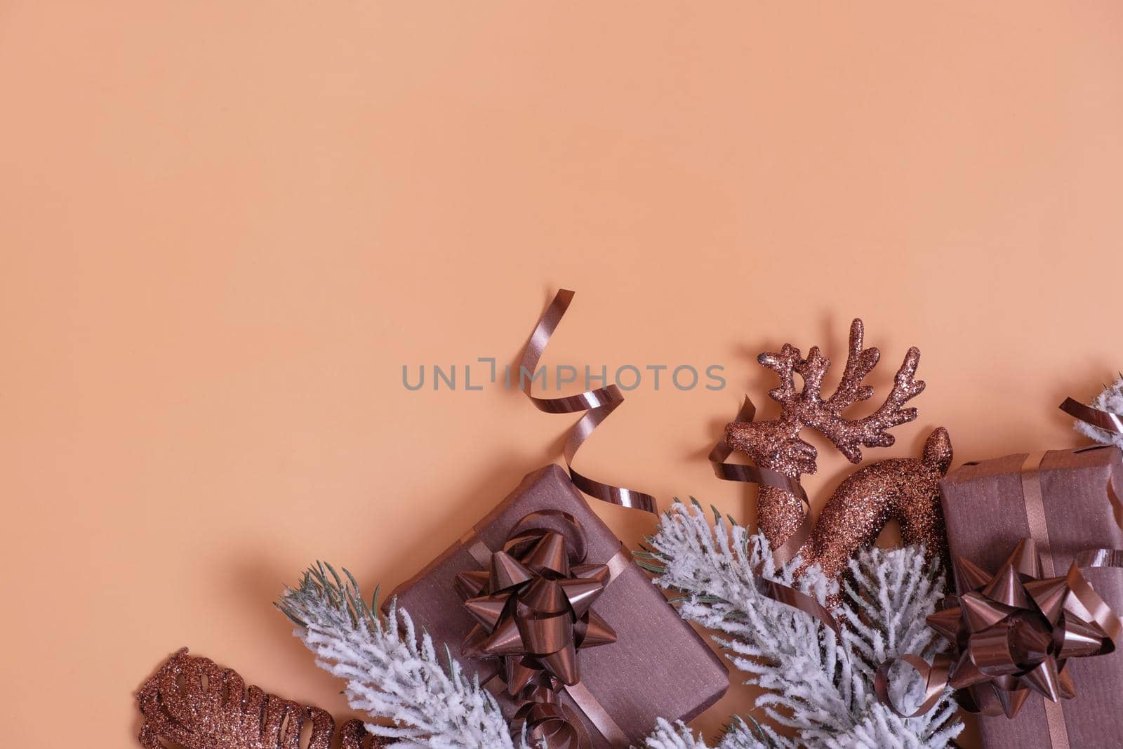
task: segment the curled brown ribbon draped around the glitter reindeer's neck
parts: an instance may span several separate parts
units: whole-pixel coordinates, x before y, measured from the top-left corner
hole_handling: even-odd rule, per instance
[[[741,410],[737,412],[737,417],[733,421],[749,422],[752,421],[757,415],[757,408],[752,404],[751,399],[748,395],[745,396],[745,402],[741,403]],[[733,463],[725,463],[730,455],[732,455],[733,448],[725,442],[722,438],[713,449],[710,450],[710,463],[713,466],[713,473],[723,481],[736,481],[743,482],[747,484],[764,484],[766,486],[775,486],[782,488],[785,492],[794,494],[800,497],[803,502],[803,520],[800,521],[798,528],[784,541],[784,544],[778,548],[774,549],[772,557],[773,563],[776,567],[783,567],[788,561],[794,559],[803,545],[806,544],[807,539],[811,537],[812,522],[811,522],[811,502],[807,500],[807,493],[803,491],[803,486],[800,482],[794,478],[789,478],[784,474],[770,471],[768,468],[760,468],[758,466],[743,466]],[[802,593],[789,585],[784,585],[783,583],[777,583],[776,581],[770,581],[764,577],[764,565],[758,565],[756,569],[752,570],[752,576],[756,582],[757,592],[766,599],[772,599],[784,605],[797,609],[805,614],[818,619],[825,627],[830,628],[834,632],[836,637],[840,637],[841,632],[839,629],[839,623],[827,610],[825,606],[820,604],[813,597],[806,593]]]

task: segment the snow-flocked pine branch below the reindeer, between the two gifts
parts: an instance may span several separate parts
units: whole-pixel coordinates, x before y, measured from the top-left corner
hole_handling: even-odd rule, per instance
[[[878,703],[874,674],[884,660],[904,654],[931,660],[942,649],[924,619],[942,596],[943,575],[925,561],[923,549],[862,550],[850,561],[853,583],[846,584],[843,605],[836,616],[843,623],[841,642],[810,615],[776,603],[757,592],[754,570],[824,603],[838,584],[816,568],[798,579],[795,559],[776,569],[768,544],[731,519],[714,513],[711,523],[695,502],[676,502],[665,512],[649,551],[640,564],[658,575],[656,583],[681,593],[676,599],[685,619],[718,630],[715,637],[748,683],[766,689],[757,706],[796,738],[763,727],[766,743],[719,743],[719,749],[941,749],[962,730],[950,691],[919,718],[903,719]],[[891,682],[891,694],[906,711],[921,698],[919,676],[907,669]],[[652,749],[704,749],[690,732],[661,727],[648,739]],[[751,734],[750,734],[751,736]],[[727,737],[728,739],[728,737]],[[663,743],[660,743],[660,741]]]

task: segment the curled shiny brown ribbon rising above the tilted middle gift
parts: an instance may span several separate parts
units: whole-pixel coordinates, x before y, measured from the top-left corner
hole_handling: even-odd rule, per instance
[[[622,508],[633,508],[643,510],[652,514],[658,514],[657,503],[654,496],[643,492],[637,492],[621,486],[613,486],[603,482],[590,478],[574,471],[573,460],[577,450],[588,439],[590,435],[602,421],[609,418],[621,403],[624,396],[614,384],[608,387],[585,391],[579,395],[565,395],[562,398],[537,398],[532,392],[533,375],[538,371],[538,362],[550,342],[550,337],[557,329],[558,322],[565,316],[573,301],[573,292],[566,289],[558,291],[550,302],[546,312],[539,318],[535,326],[535,331],[530,335],[530,341],[522,353],[519,363],[519,380],[522,382],[522,392],[526,393],[530,402],[539,411],[547,413],[576,413],[584,411],[584,415],[569,430],[569,436],[565,444],[565,462],[569,469],[569,478],[574,485],[585,494],[602,502],[618,504]],[[526,373],[527,376],[523,376]]]

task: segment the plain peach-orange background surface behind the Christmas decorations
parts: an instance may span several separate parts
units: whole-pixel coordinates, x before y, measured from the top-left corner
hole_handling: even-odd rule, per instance
[[[344,716],[271,601],[400,582],[557,457],[570,419],[401,366],[512,360],[559,285],[547,363],[725,366],[581,458],[661,497],[751,517],[703,454],[752,355],[856,314],[883,385],[924,353],[882,457],[1076,444],[1123,366],[1123,7],[789,6],[0,4],[6,742],[130,746],[183,645]]]

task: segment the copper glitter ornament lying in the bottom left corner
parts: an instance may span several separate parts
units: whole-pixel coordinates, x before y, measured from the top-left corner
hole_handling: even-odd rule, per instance
[[[193,658],[186,648],[148,679],[137,698],[145,718],[138,740],[145,749],[165,749],[166,741],[183,749],[329,749],[336,727],[326,711],[247,688],[237,672]],[[302,745],[308,722],[312,731]],[[384,746],[366,736],[360,721],[344,724],[339,736],[340,749]]]

